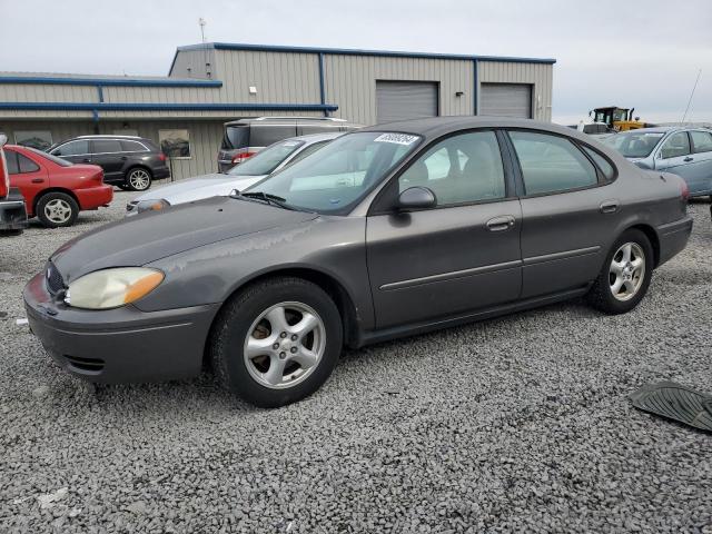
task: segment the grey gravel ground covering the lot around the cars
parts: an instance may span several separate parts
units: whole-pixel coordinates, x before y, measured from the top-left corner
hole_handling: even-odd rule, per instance
[[[260,411],[209,376],[95,389],[16,324],[48,255],[128,198],[0,239],[0,532],[712,533],[712,437],[626,399],[712,392],[706,202],[631,314],[574,301],[352,352]]]

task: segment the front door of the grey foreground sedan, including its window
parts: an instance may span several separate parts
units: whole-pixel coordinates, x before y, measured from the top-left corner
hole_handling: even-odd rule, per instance
[[[368,217],[378,328],[466,315],[518,297],[522,214],[505,181],[495,132],[473,131],[426,149],[388,186],[395,197],[427,187],[437,205]]]

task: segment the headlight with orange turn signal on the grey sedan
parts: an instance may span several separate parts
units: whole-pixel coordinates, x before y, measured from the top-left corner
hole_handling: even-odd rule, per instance
[[[118,308],[145,297],[164,281],[164,274],[146,267],[90,273],[69,284],[65,303],[75,308]]]

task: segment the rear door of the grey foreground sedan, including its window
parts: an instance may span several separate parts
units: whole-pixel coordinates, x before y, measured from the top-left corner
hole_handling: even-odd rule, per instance
[[[568,138],[530,130],[508,135],[523,188],[522,297],[582,287],[596,277],[614,237],[622,211],[615,188]]]

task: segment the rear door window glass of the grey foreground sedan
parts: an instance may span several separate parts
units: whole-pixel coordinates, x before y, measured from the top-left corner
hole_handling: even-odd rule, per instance
[[[599,182],[595,167],[568,139],[533,131],[511,131],[526,195],[580,189]]]

